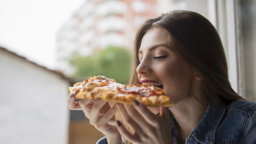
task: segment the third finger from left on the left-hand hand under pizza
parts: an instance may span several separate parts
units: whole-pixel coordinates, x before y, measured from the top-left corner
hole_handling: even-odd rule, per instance
[[[107,101],[97,101],[94,103],[92,109],[91,109],[91,122],[96,123],[98,120],[103,116],[103,114],[100,113],[101,108],[105,105]]]

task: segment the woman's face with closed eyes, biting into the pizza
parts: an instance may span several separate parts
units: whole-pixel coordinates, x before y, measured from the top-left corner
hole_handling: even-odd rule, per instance
[[[195,76],[183,58],[174,51],[175,48],[169,48],[168,35],[169,32],[159,27],[146,32],[139,48],[137,73],[142,84],[150,81],[162,84],[164,93],[178,103],[189,97]]]

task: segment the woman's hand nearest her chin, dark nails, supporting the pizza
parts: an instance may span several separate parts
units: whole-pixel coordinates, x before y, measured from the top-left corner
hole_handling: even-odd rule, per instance
[[[155,115],[145,105],[134,101],[134,105],[118,104],[119,112],[125,122],[132,130],[129,133],[120,121],[117,121],[119,133],[133,144],[174,143],[171,137],[171,127],[168,107],[160,107],[160,114]]]

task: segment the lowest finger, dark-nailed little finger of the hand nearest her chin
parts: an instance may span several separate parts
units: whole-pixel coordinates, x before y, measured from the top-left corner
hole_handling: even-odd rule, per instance
[[[120,121],[117,121],[117,130],[119,131],[119,133],[128,141],[132,142],[132,143],[139,143],[139,139],[138,137],[136,137],[135,135],[130,134],[125,127],[121,124]]]

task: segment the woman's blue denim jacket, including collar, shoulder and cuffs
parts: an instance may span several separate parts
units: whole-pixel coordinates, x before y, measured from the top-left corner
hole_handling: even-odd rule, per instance
[[[175,144],[181,144],[181,138],[175,127],[171,111],[170,124]],[[103,142],[106,137],[98,141]],[[237,100],[223,107],[209,102],[201,121],[187,137],[186,144],[256,144],[256,103]],[[122,141],[124,144],[124,141]]]

